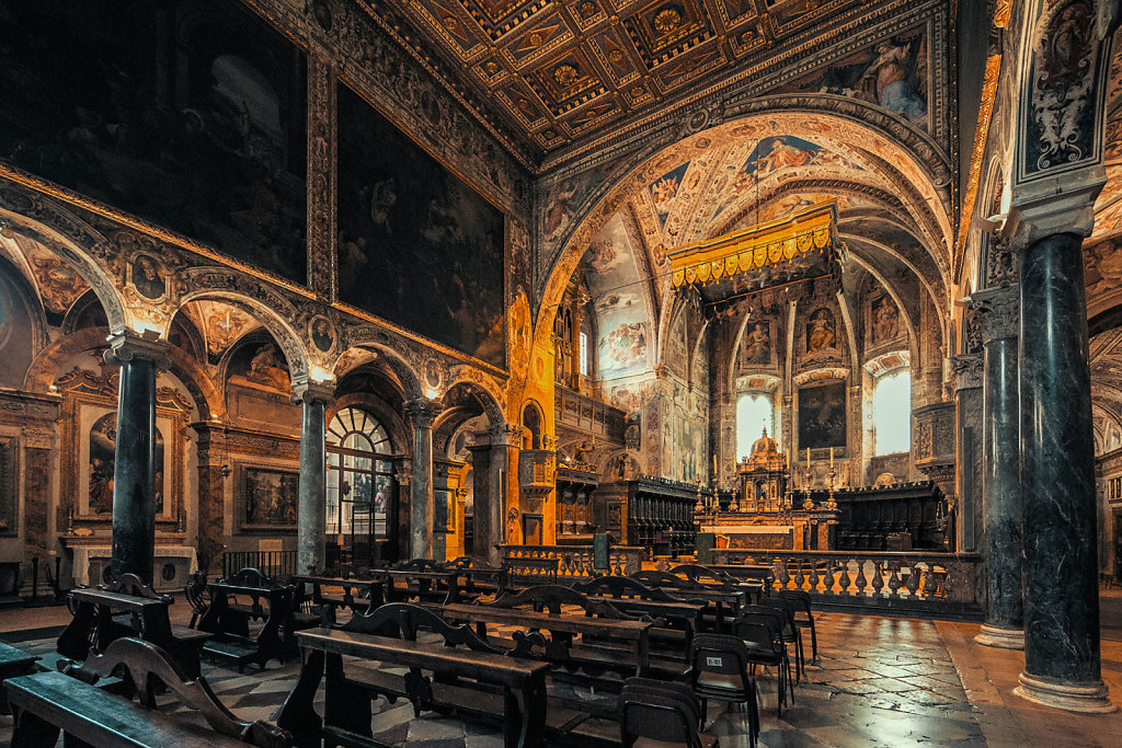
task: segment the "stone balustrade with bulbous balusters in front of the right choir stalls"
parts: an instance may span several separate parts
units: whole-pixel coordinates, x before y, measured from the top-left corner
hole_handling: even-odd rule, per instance
[[[776,590],[802,590],[826,604],[966,617],[981,610],[977,554],[729,548],[712,554],[717,565],[771,566]]]

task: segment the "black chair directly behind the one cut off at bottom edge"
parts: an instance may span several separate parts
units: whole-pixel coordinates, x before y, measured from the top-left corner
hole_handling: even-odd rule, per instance
[[[701,698],[701,723],[708,700],[717,699],[748,708],[748,738],[753,746],[760,735],[756,681],[748,674],[752,663],[744,641],[727,634],[699,634],[690,644],[690,686]]]

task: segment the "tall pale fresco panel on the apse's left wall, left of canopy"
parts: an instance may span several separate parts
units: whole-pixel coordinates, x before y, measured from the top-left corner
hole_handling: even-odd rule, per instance
[[[644,370],[650,361],[650,321],[631,242],[618,215],[604,227],[582,262],[597,311],[600,376],[615,379]]]

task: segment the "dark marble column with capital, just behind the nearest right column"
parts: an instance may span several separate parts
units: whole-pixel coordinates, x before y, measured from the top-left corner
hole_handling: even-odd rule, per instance
[[[978,644],[1024,648],[1021,606],[1021,475],[1017,385],[1020,290],[987,288],[972,296],[984,344],[982,550],[985,553],[985,622]]]

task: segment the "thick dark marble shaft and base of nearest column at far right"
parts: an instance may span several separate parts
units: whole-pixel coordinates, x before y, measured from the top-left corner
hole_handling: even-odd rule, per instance
[[[1028,243],[1021,281],[1024,672],[1017,693],[1111,711],[1100,674],[1094,441],[1082,240]]]

